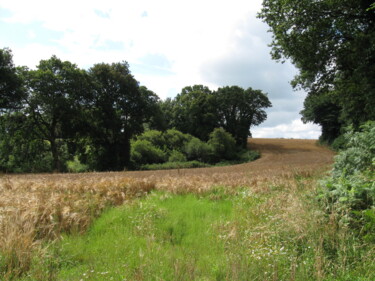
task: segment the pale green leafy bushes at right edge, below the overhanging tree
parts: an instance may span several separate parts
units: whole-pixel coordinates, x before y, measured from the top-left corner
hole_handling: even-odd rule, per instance
[[[332,176],[320,194],[329,211],[338,212],[341,221],[375,240],[375,122],[361,131],[345,135],[346,145],[335,158]]]

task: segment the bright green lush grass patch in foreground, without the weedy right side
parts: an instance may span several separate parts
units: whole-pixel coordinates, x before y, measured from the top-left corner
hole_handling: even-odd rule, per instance
[[[216,229],[233,203],[154,193],[105,213],[86,236],[62,243],[62,280],[220,280],[225,244]],[[70,265],[69,265],[70,264]]]

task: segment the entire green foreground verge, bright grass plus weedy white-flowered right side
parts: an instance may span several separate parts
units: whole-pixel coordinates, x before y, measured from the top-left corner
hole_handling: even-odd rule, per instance
[[[374,245],[320,212],[308,179],[294,181],[153,192],[50,246],[25,279],[374,280]]]

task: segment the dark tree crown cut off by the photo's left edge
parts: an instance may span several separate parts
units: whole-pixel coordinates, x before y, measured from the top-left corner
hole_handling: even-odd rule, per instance
[[[20,106],[21,86],[22,80],[13,64],[12,52],[7,48],[0,49],[0,112]]]

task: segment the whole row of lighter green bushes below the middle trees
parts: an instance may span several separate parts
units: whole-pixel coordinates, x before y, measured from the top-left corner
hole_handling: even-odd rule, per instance
[[[202,167],[223,161],[247,162],[259,156],[250,154],[238,149],[232,135],[222,128],[211,132],[208,142],[175,129],[146,131],[131,142],[135,169]]]

